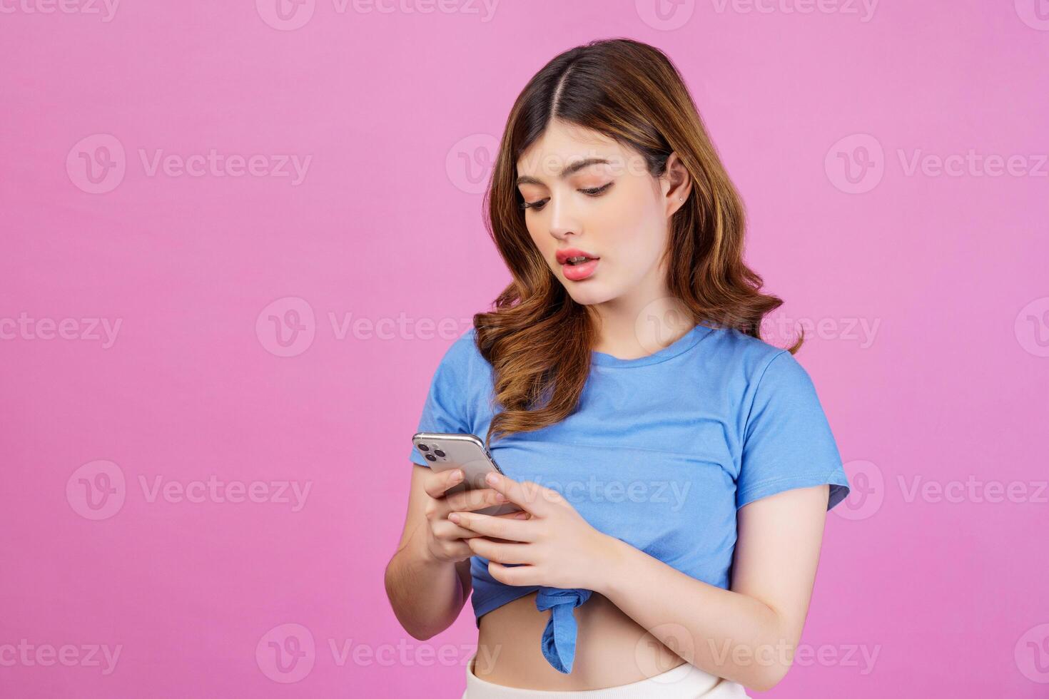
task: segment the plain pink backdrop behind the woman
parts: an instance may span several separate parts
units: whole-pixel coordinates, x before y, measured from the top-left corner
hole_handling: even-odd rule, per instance
[[[275,1],[0,5],[0,696],[461,695],[470,608],[416,641],[383,589],[409,437],[509,279],[514,97],[616,36],[683,71],[854,479],[769,696],[1049,693],[1049,3]],[[255,174],[150,169],[210,149]],[[1012,172],[921,159],[970,151]]]

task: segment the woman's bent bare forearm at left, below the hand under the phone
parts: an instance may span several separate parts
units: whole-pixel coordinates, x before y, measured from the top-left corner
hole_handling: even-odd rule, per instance
[[[426,548],[420,527],[386,566],[386,596],[401,626],[426,640],[455,621],[471,590],[470,559],[448,563]]]

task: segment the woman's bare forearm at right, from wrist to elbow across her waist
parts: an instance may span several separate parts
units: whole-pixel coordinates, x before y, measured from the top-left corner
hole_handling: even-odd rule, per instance
[[[775,610],[609,539],[611,567],[595,592],[705,672],[761,692],[784,677],[797,639],[784,638]]]

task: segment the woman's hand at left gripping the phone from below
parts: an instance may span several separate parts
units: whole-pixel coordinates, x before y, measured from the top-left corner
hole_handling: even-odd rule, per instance
[[[473,551],[463,540],[481,536],[464,529],[449,520],[449,512],[484,509],[506,502],[506,498],[494,488],[477,488],[446,495],[447,490],[458,485],[462,480],[461,468],[431,471],[426,475],[424,487],[426,495],[429,496],[426,502],[426,546],[430,555],[436,561],[457,563],[469,559],[473,555]],[[528,518],[528,514],[517,511],[496,517],[522,520]]]

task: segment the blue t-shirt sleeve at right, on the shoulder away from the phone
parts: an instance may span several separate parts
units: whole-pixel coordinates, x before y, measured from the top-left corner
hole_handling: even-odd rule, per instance
[[[797,487],[830,484],[827,509],[849,495],[834,435],[809,373],[787,350],[766,365],[743,438],[735,506]]]

